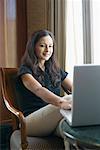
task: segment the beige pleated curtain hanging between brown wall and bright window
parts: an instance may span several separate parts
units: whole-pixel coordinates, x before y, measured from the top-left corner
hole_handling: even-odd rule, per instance
[[[48,29],[50,29],[56,39],[57,58],[61,68],[65,69],[66,61],[66,0],[48,1]]]

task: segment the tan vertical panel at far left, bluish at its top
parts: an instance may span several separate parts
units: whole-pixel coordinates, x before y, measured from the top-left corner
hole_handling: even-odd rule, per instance
[[[16,66],[16,0],[0,1],[0,65]],[[2,8],[2,9],[1,9]]]

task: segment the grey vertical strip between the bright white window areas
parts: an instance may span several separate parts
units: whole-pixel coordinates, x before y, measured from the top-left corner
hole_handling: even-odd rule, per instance
[[[83,48],[84,48],[84,63],[91,63],[92,56],[92,24],[91,24],[91,5],[90,1],[82,0],[82,12],[83,12]]]

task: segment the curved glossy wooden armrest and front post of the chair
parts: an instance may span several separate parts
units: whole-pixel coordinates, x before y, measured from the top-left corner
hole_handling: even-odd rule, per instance
[[[23,115],[23,113],[21,111],[19,111],[18,109],[14,108],[12,103],[11,103],[11,99],[9,99],[8,97],[8,92],[7,92],[7,82],[6,82],[6,76],[7,76],[7,72],[5,69],[1,68],[1,76],[2,76],[2,80],[1,80],[1,93],[2,93],[2,98],[4,100],[4,103],[7,107],[7,109],[14,114],[20,123],[20,131],[21,131],[21,147],[22,150],[26,149],[28,146],[28,142],[27,142],[27,137],[26,137],[26,122],[25,122],[25,117]]]

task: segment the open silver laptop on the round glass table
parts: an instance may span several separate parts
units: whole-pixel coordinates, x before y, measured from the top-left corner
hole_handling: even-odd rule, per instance
[[[74,66],[72,109],[60,113],[73,127],[100,125],[100,65]]]

